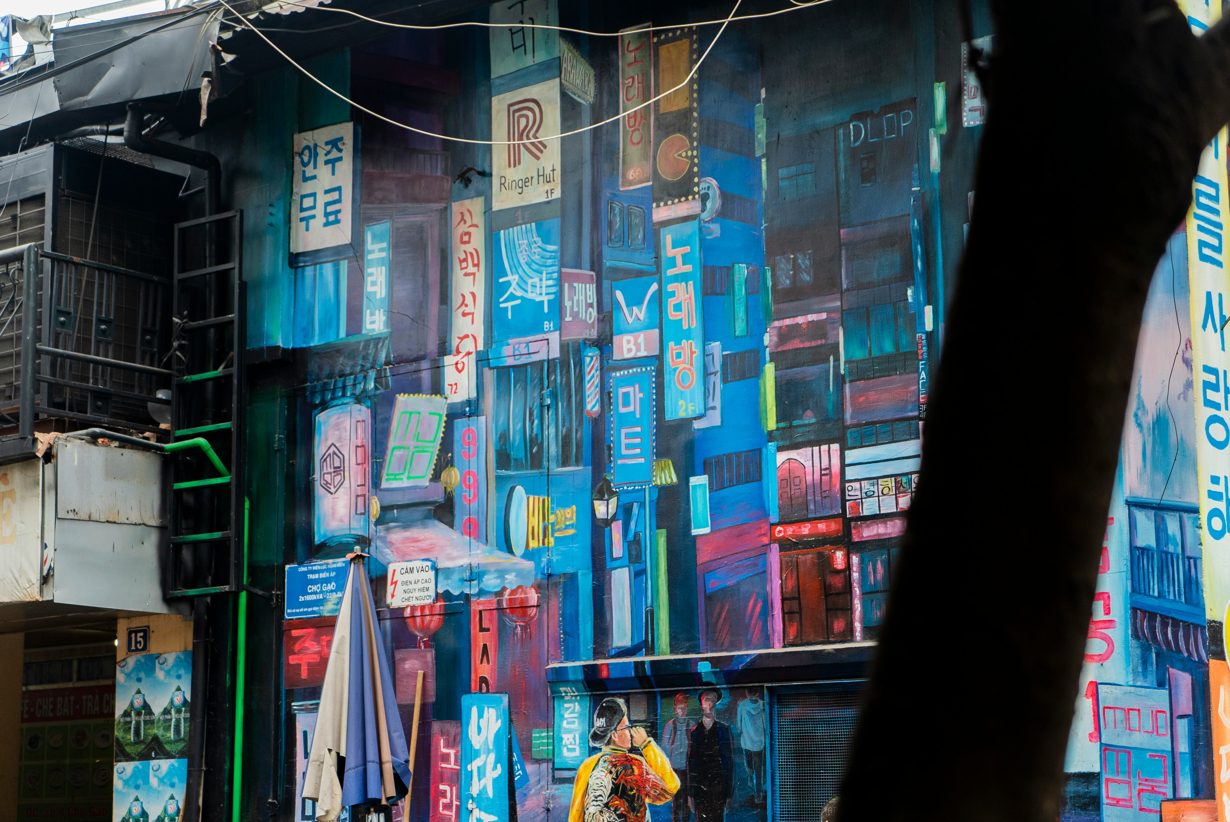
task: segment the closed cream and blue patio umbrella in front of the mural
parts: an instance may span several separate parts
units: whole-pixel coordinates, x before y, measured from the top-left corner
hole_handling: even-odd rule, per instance
[[[304,797],[316,801],[321,822],[332,822],[352,805],[396,802],[410,784],[410,754],[368,588],[367,555],[349,559],[304,783]]]

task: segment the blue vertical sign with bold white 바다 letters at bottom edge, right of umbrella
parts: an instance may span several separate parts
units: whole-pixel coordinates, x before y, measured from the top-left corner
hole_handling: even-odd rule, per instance
[[[475,822],[508,822],[508,694],[461,696],[461,808]]]

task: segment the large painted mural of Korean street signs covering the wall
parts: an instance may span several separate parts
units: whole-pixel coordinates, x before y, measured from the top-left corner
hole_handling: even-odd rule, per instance
[[[283,438],[256,459],[290,477],[283,818],[316,818],[304,778],[354,553],[415,741],[390,820],[818,813],[884,624],[975,203],[986,101],[954,6],[835,0],[724,28],[729,9],[700,4],[467,14],[494,26],[314,58],[419,130],[301,84],[280,160],[293,305],[246,274],[248,347],[294,372],[276,397],[253,383],[248,410]],[[390,60],[434,85],[376,80]],[[1225,162],[1202,166],[1145,308],[1064,822],[1220,802]],[[1027,492],[1011,432],[985,447],[1004,474],[970,476],[967,505]],[[194,695],[166,684],[117,699],[117,818],[182,801]]]

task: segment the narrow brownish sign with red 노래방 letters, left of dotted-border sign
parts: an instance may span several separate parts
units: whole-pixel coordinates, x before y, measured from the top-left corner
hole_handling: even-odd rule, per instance
[[[653,98],[653,49],[648,23],[625,28],[619,38],[620,121],[619,187],[640,188],[653,182],[652,106],[637,108]],[[635,110],[635,111],[632,111]]]

